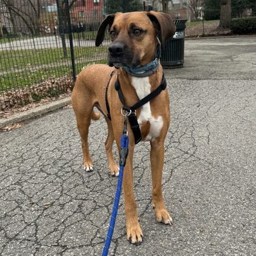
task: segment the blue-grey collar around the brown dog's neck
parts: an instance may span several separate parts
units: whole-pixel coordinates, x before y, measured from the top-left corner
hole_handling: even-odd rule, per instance
[[[161,56],[161,43],[157,38],[158,44],[156,48],[155,59],[146,65],[139,65],[137,67],[122,67],[129,75],[135,77],[146,77],[156,72],[159,67],[159,58]]]

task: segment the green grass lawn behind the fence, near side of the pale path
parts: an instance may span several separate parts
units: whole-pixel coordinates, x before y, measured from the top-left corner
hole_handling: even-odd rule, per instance
[[[106,51],[106,47],[75,47],[76,73],[84,65],[106,63]],[[47,78],[71,73],[69,49],[67,58],[64,58],[62,49],[12,50],[0,54],[0,91],[31,86]]]

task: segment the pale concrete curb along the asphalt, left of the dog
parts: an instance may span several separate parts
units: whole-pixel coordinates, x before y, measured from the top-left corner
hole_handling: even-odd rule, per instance
[[[42,106],[38,106],[36,108],[32,108],[31,110],[16,113],[14,115],[11,115],[8,118],[1,118],[0,119],[0,128],[3,128],[5,126],[14,124],[17,122],[23,122],[25,120],[32,119],[34,117],[39,117],[40,115],[43,115],[45,113],[49,113],[51,111],[63,108],[64,106],[67,106],[68,104],[71,104],[71,97],[67,97],[67,98],[61,99],[61,100],[56,100],[49,104],[45,104]]]

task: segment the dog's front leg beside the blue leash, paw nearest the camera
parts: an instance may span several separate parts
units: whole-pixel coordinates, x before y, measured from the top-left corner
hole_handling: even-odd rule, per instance
[[[126,214],[126,237],[132,244],[139,245],[143,240],[143,233],[139,225],[137,206],[134,198],[133,151],[134,149],[129,147],[129,154],[124,167],[124,209]]]

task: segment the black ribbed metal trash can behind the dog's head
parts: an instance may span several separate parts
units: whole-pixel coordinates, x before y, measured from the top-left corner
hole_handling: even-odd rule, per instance
[[[186,21],[187,19],[174,19],[176,32],[165,43],[161,53],[161,65],[165,68],[183,67]]]

